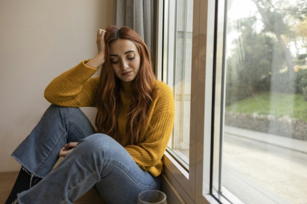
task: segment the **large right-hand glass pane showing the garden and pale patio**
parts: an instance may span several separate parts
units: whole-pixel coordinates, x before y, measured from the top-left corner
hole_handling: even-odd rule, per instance
[[[307,201],[307,3],[226,0],[220,194]]]

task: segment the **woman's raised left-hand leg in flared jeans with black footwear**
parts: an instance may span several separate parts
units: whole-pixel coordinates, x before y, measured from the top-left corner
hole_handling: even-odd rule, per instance
[[[93,126],[80,109],[51,105],[12,154],[23,167],[5,204],[12,203],[17,193],[44,178],[59,159],[59,150],[66,143],[77,142],[94,133]]]

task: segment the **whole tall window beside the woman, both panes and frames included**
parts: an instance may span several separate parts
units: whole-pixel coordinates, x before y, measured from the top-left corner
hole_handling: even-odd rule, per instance
[[[174,189],[188,204],[306,203],[306,0],[159,5]]]

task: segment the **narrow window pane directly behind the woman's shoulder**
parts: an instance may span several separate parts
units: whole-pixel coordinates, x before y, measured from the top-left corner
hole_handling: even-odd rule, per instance
[[[168,85],[173,88],[176,107],[174,131],[168,147],[188,168],[193,0],[166,3],[168,54],[164,79],[167,78]]]

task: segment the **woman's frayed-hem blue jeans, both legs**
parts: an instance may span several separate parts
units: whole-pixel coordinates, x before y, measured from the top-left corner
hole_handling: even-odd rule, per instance
[[[51,171],[68,142],[79,143]],[[108,204],[136,204],[140,192],[160,188],[160,177],[143,171],[112,137],[95,134],[79,108],[51,105],[12,157],[43,178],[19,194],[21,204],[72,204],[94,185]]]

